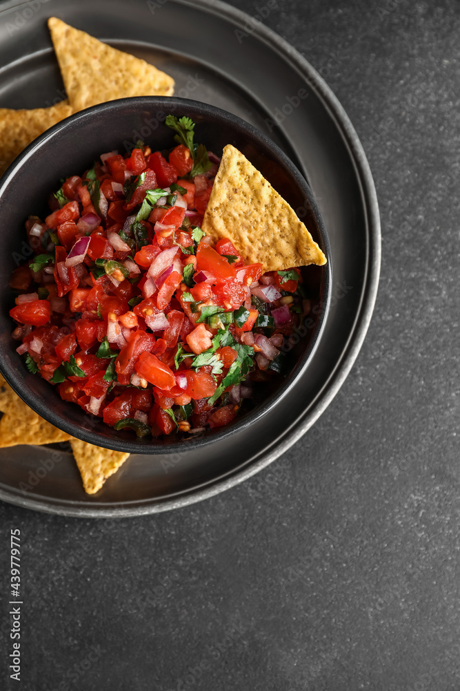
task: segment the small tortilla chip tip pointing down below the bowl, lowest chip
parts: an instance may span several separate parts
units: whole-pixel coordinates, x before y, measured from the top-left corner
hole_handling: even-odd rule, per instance
[[[98,492],[107,478],[116,473],[129,456],[129,453],[93,446],[81,439],[70,439],[70,446],[87,494]]]

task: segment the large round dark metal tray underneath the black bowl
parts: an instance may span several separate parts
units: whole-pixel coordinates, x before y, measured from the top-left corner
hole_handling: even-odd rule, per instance
[[[377,197],[368,162],[343,108],[281,37],[216,0],[54,0],[11,26],[20,3],[2,3],[0,106],[34,108],[63,97],[46,19],[152,62],[176,94],[226,109],[268,134],[304,173],[326,221],[332,306],[310,366],[282,406],[249,429],[196,453],[132,455],[94,497],[83,492],[66,448],[0,451],[0,498],[74,516],[155,513],[206,499],[285,453],[314,424],[357,357],[374,307],[380,267]],[[190,36],[206,41],[190,41]],[[110,126],[110,124],[108,125]]]

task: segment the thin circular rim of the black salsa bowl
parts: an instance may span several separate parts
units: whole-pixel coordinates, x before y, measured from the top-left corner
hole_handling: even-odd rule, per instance
[[[299,169],[297,169],[297,167],[294,165],[292,160],[290,160],[288,155],[286,155],[286,153],[284,153],[284,151],[277,144],[272,142],[272,140],[270,140],[267,135],[257,129],[257,127],[249,122],[246,122],[246,120],[243,120],[243,118],[223,110],[223,108],[218,108],[217,106],[212,106],[207,103],[176,96],[125,97],[97,104],[95,106],[91,106],[90,108],[85,108],[78,113],[73,113],[72,115],[66,117],[64,120],[61,120],[61,122],[58,122],[50,129],[39,135],[38,138],[31,142],[26,149],[24,149],[19,156],[14,159],[5,173],[3,173],[3,176],[0,178],[0,198],[3,196],[3,193],[8,188],[8,184],[21,169],[23,164],[28,161],[30,157],[34,155],[34,153],[40,149],[43,149],[43,146],[46,146],[55,135],[68,129],[69,127],[74,126],[74,124],[78,124],[79,121],[84,122],[88,119],[88,117],[95,117],[97,115],[107,113],[108,111],[113,111],[113,109],[123,108],[125,106],[133,106],[134,104],[136,104],[139,108],[151,108],[152,106],[157,106],[157,108],[163,106],[163,108],[166,110],[168,110],[168,108],[182,108],[184,110],[184,114],[187,114],[186,109],[189,108],[191,110],[200,111],[200,115],[203,115],[204,117],[206,117],[206,115],[210,115],[218,117],[221,120],[230,120],[233,126],[240,131],[244,131],[253,141],[259,140],[261,144],[272,151],[274,158],[281,159],[284,166],[288,170],[289,175],[296,182],[297,186],[301,189],[304,197],[310,204],[312,213],[314,214],[319,227],[320,237],[317,239],[319,240],[321,249],[323,249],[323,252],[327,258],[326,265],[321,267],[321,269],[323,269],[321,281],[321,310],[317,315],[317,322],[314,327],[312,337],[310,338],[308,348],[301,356],[299,363],[297,363],[297,366],[294,369],[294,375],[292,377],[281,381],[280,386],[274,392],[272,392],[266,401],[263,401],[263,403],[259,404],[259,406],[254,408],[254,410],[246,413],[241,418],[237,417],[230,425],[219,428],[218,430],[214,430],[212,433],[206,433],[203,435],[203,437],[190,437],[190,439],[187,438],[179,442],[167,442],[163,444],[160,443],[151,445],[139,444],[139,442],[137,442],[137,437],[133,437],[132,441],[121,439],[115,435],[113,435],[113,437],[111,436],[110,439],[107,439],[96,430],[86,430],[84,428],[80,428],[77,424],[66,422],[65,419],[61,418],[59,413],[56,413],[54,410],[50,410],[50,408],[46,406],[45,401],[42,401],[31,392],[23,377],[16,376],[20,374],[20,370],[17,370],[17,372],[12,372],[10,368],[6,366],[1,350],[0,372],[5,377],[8,384],[10,384],[12,389],[17,393],[17,395],[19,395],[19,397],[21,397],[21,399],[23,399],[23,401],[25,401],[26,404],[32,408],[32,410],[37,412],[39,415],[41,415],[41,417],[46,419],[54,426],[57,426],[59,429],[72,435],[72,437],[82,439],[83,441],[89,442],[90,444],[94,444],[96,446],[103,446],[105,448],[113,449],[114,451],[123,451],[126,453],[137,453],[142,455],[167,455],[169,453],[184,453],[188,451],[188,449],[196,450],[197,448],[202,448],[203,446],[209,446],[213,442],[221,441],[222,439],[238,433],[239,430],[248,428],[248,426],[254,424],[257,419],[263,415],[266,415],[270,410],[272,410],[272,408],[281,403],[281,401],[289,394],[290,390],[292,390],[292,388],[297,384],[297,381],[308,368],[310,361],[314,356],[314,352],[317,350],[319,341],[321,340],[321,336],[326,326],[327,316],[330,309],[330,286],[332,285],[332,256],[330,242],[321,211],[319,210],[319,206],[314,198],[308,182],[303,177]],[[82,414],[84,414],[83,411]],[[101,424],[103,423],[101,422]],[[107,427],[110,428],[110,426]]]

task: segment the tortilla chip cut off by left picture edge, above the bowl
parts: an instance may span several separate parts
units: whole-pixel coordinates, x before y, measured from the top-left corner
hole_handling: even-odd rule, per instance
[[[72,115],[68,101],[32,111],[0,108],[0,175],[30,142],[68,115]]]

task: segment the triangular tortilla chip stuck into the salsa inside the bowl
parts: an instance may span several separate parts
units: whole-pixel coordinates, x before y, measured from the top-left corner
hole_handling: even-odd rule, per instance
[[[227,144],[201,225],[214,242],[230,238],[248,263],[265,271],[326,264],[294,209],[238,149]]]

